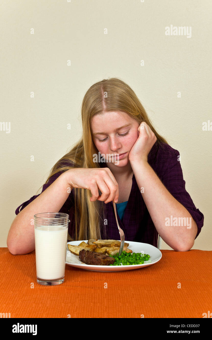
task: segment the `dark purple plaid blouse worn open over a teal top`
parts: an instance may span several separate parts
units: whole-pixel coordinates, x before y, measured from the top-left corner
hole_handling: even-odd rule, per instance
[[[195,238],[197,238],[201,231],[201,227],[203,226],[204,216],[199,211],[199,209],[195,207],[189,193],[185,190],[185,181],[183,180],[182,169],[178,159],[178,150],[173,149],[166,143],[159,143],[158,141],[154,143],[152,149],[148,154],[148,163],[156,172],[163,185],[168,189],[173,197],[190,212],[191,216],[196,222],[198,231]],[[69,164],[69,166],[71,165]],[[107,164],[99,163],[99,166],[104,168],[107,166]],[[43,185],[42,192],[49,185],[51,185],[61,174],[62,172],[58,172],[53,175],[49,179],[48,183]],[[15,214],[18,215],[20,208],[21,211],[38,196],[39,194],[34,195],[28,201],[19,205],[19,207],[15,210]],[[104,203],[104,207],[105,213],[104,216],[102,216],[101,238],[118,240],[120,239],[120,235],[116,224],[113,203]],[[39,212],[42,211],[38,211],[38,213]],[[69,214],[70,222],[68,225],[68,233],[72,238],[75,238],[74,189],[71,190],[68,199],[59,210],[59,212],[65,212],[66,214]],[[157,247],[158,232],[144,203],[134,174],[132,177],[132,188],[124,212],[123,221],[121,221],[118,214],[117,218],[119,226],[121,227],[121,229],[123,229],[125,233],[125,240],[149,243]]]

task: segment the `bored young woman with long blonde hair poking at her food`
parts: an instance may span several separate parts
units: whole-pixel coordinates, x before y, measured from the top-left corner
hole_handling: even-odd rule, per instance
[[[179,151],[153,128],[134,91],[117,78],[92,85],[82,102],[82,128],[42,193],[16,209],[9,251],[35,249],[34,215],[48,211],[69,214],[68,241],[119,239],[112,200],[127,241],[157,247],[159,234],[174,250],[190,250],[203,214],[185,190]]]

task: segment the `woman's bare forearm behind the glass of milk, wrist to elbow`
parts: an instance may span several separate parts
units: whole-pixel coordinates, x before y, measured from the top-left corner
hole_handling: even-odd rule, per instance
[[[67,180],[63,173],[19,212],[7,236],[7,247],[13,255],[28,254],[35,249],[34,215],[41,212],[58,212],[68,195]]]

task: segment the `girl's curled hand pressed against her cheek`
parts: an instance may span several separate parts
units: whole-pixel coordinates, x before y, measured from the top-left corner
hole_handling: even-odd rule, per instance
[[[138,126],[138,138],[129,152],[129,161],[136,162],[144,160],[147,162],[147,156],[157,138],[147,123],[142,122]]]

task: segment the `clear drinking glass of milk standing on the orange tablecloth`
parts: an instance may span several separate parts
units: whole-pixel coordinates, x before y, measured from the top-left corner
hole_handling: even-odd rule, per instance
[[[64,282],[69,215],[43,212],[34,215],[37,283]]]

